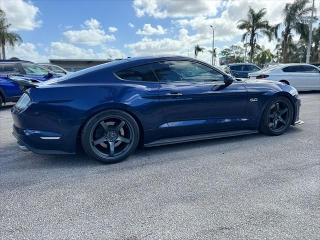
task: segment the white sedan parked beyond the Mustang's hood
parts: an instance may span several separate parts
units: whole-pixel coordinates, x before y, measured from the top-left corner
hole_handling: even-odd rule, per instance
[[[248,74],[253,79],[280,81],[299,91],[320,90],[320,68],[305,63],[270,66]]]

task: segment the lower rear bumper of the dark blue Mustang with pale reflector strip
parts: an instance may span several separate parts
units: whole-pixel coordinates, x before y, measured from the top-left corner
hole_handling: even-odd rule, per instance
[[[63,149],[65,142],[63,135],[55,132],[21,129],[12,126],[12,135],[18,140],[18,147],[22,151],[32,151],[38,154],[74,154]],[[59,149],[59,150],[57,150]]]

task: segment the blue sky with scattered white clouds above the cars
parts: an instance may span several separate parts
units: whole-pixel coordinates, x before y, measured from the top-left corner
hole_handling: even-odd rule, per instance
[[[205,47],[199,58],[210,61],[210,24],[217,26],[220,51],[242,44],[236,22],[248,6],[267,9],[271,24],[281,21],[286,0],[1,0],[0,7],[23,43],[7,49],[7,57],[35,62],[48,58],[116,58],[135,55],[182,54]],[[319,9],[320,1],[316,1]],[[317,14],[319,15],[319,14]],[[295,36],[294,39],[298,39]],[[276,41],[259,37],[274,49]]]

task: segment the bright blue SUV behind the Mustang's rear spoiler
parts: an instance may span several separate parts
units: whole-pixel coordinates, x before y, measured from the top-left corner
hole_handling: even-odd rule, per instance
[[[38,82],[61,76],[31,61],[0,60],[0,107],[2,103],[17,101],[22,95],[19,85],[7,77],[8,73],[19,74]]]

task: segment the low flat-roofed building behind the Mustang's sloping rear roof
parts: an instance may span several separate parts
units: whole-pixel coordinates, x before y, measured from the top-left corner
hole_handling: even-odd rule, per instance
[[[50,64],[58,65],[67,71],[78,71],[110,61],[113,59],[49,59]]]

